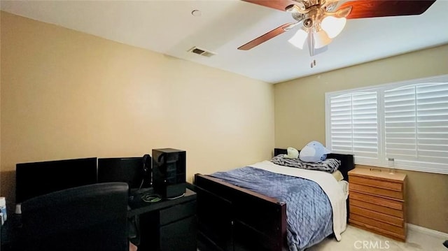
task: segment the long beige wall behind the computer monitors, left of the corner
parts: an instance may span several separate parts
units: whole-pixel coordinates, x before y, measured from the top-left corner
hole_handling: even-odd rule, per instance
[[[151,39],[148,37],[148,39]],[[187,177],[267,159],[267,83],[1,13],[1,195],[15,164],[187,151]]]

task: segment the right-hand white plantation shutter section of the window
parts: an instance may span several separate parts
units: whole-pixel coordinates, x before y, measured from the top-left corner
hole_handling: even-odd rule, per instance
[[[387,157],[407,166],[448,164],[448,83],[388,89],[384,112]]]

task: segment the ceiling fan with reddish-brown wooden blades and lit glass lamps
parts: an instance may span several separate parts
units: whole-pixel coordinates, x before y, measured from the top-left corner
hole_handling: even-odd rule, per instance
[[[420,15],[435,0],[242,0],[260,6],[291,13],[295,22],[283,24],[258,38],[241,45],[239,50],[250,50],[275,36],[302,24],[288,42],[302,49],[305,41],[309,55],[327,50],[344,29],[346,19],[387,17],[396,15]],[[338,6],[340,4],[340,6]]]

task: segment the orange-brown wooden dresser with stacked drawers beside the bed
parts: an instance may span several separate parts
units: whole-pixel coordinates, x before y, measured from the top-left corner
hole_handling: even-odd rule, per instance
[[[381,170],[357,167],[349,171],[349,223],[406,241],[406,175]]]

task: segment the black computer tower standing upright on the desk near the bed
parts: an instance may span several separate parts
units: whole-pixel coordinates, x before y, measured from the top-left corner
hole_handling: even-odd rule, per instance
[[[153,149],[152,173],[154,192],[162,198],[182,196],[186,192],[186,151]]]

